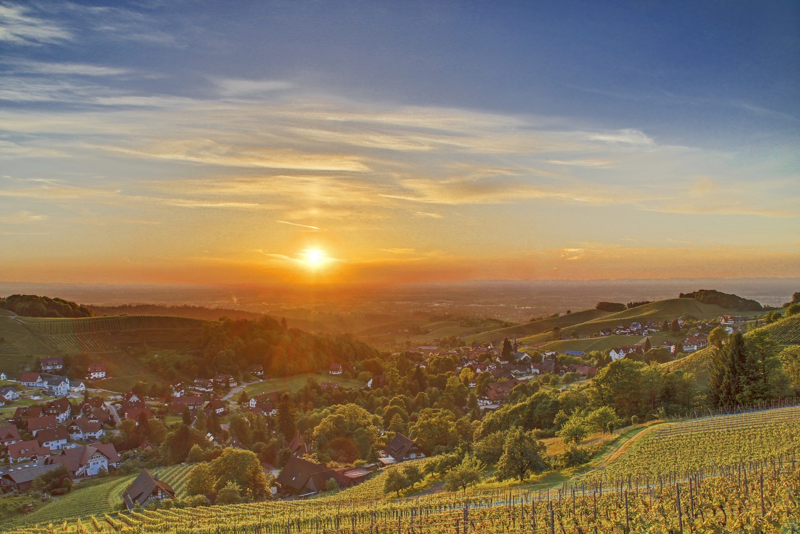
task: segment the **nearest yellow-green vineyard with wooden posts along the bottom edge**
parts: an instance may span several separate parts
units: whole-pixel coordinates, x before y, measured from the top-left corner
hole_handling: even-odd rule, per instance
[[[530,492],[466,492],[401,500],[299,500],[170,508],[63,520],[13,534],[509,534],[527,532],[788,532],[800,520],[800,467],[788,458],[687,472],[642,484],[578,484]]]

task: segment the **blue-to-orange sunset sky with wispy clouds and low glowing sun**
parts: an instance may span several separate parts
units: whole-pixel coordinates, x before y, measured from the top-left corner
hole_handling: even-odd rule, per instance
[[[800,276],[798,2],[0,2],[0,280]]]

